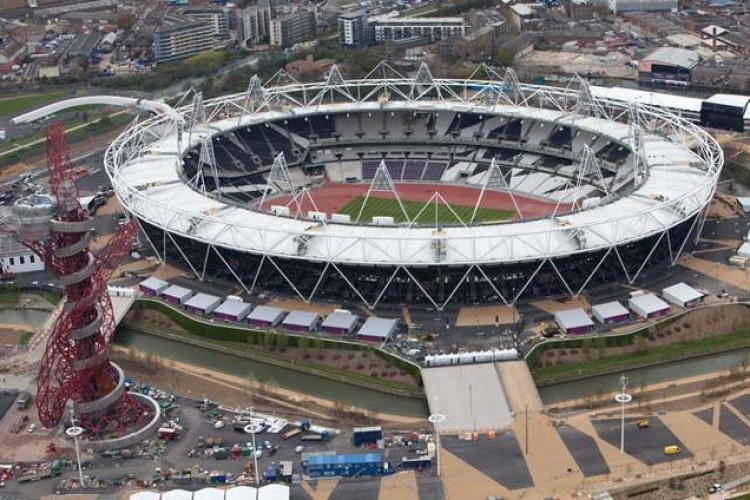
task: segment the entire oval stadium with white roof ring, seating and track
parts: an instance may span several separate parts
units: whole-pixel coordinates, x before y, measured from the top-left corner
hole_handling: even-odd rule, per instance
[[[108,148],[115,193],[162,260],[368,307],[575,296],[674,264],[723,163],[672,110],[580,79],[283,76],[155,106]]]

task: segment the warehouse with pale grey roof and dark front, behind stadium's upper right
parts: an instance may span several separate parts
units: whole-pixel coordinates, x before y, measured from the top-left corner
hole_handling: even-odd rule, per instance
[[[687,86],[699,62],[700,56],[693,50],[660,47],[638,63],[638,81]]]

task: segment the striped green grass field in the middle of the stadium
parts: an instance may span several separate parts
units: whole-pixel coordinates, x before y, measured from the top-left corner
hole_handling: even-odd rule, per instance
[[[357,220],[359,210],[365,201],[364,196],[357,196],[353,198],[349,203],[344,205],[341,210],[338,211],[340,214],[350,215],[352,221]],[[409,214],[409,219],[414,219],[417,214],[424,208],[425,202],[423,201],[402,201],[406,213]],[[465,205],[451,205],[453,212],[455,212],[465,223],[471,220],[471,214],[474,212],[474,207],[467,207]],[[440,225],[455,225],[461,224],[461,221],[456,218],[453,212],[443,203],[437,205],[437,218]],[[489,222],[498,221],[504,219],[510,219],[515,215],[515,212],[508,210],[497,210],[494,208],[479,208],[477,215],[474,218],[474,222]],[[393,217],[396,222],[405,222],[404,213],[401,211],[401,207],[398,205],[398,201],[390,200],[385,198],[373,198],[370,197],[367,200],[364,211],[362,211],[361,222],[370,222],[373,217]],[[429,207],[419,215],[416,222],[423,225],[435,224],[435,204],[430,204]]]

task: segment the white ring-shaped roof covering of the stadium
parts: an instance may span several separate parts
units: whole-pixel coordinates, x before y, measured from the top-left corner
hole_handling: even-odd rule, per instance
[[[417,109],[404,101],[364,102],[358,109]],[[528,116],[603,134],[627,143],[627,124],[567,112],[508,105],[486,106],[452,101],[431,103],[434,109],[473,110],[486,114]],[[306,114],[351,111],[352,103],[292,108],[244,115],[243,125]],[[218,130],[237,126],[237,119],[215,120],[210,128],[196,127],[193,145]],[[127,133],[121,137],[127,138]],[[130,211],[158,227],[192,239],[256,254],[298,258],[297,237],[307,238],[305,260],[356,264],[420,265],[474,264],[537,260],[609,248],[659,234],[700,211],[713,193],[716,172],[687,146],[661,136],[644,138],[649,175],[638,189],[596,208],[564,215],[564,225],[548,218],[505,224],[443,228],[446,253],[437,260],[430,243],[431,227],[377,227],[322,224],[255,212],[203,195],[180,177],[176,133],[167,133],[138,156],[110,170],[113,186]],[[118,144],[115,143],[115,148]],[[110,166],[111,169],[113,166]],[[195,221],[200,220],[199,224]],[[585,244],[570,237],[570,229],[585,233]]]

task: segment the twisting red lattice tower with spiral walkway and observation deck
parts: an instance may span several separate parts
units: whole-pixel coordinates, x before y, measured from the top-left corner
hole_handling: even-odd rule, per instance
[[[14,237],[39,255],[66,292],[39,371],[39,419],[45,427],[58,425],[72,402],[91,446],[127,446],[151,430],[159,413],[153,400],[126,390],[122,370],[107,356],[116,327],[107,280],[137,229],[125,224],[94,256],[94,219],[79,202],[59,123],[47,131],[47,163],[50,194],[22,198],[13,207]]]

